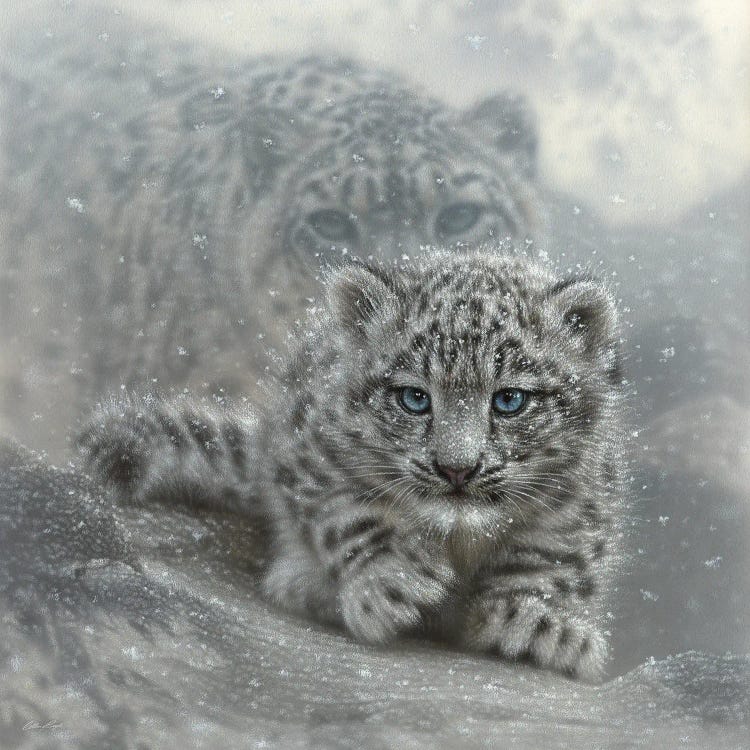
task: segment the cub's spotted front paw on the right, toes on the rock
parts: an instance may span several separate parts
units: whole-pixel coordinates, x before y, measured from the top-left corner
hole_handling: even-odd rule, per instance
[[[535,596],[478,602],[467,645],[588,681],[601,679],[607,642],[601,630]]]

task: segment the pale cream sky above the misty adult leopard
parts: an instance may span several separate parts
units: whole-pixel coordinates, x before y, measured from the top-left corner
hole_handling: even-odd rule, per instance
[[[542,178],[614,224],[673,220],[750,171],[747,0],[98,4],[92,39],[122,12],[240,55],[352,56],[457,106],[503,88],[525,93]],[[0,23],[12,30],[23,9],[41,31],[67,6],[15,0]]]

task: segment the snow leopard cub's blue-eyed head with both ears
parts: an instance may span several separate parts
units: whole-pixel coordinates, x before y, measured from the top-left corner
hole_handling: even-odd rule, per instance
[[[334,285],[363,352],[347,378],[352,470],[370,467],[372,497],[443,532],[564,516],[576,477],[601,470],[619,377],[611,299],[518,259],[425,263]]]

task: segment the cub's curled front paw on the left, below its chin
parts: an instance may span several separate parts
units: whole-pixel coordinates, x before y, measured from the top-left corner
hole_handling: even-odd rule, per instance
[[[396,556],[372,561],[342,587],[346,629],[364,643],[388,643],[423,628],[425,615],[448,598],[454,573],[445,565]]]

